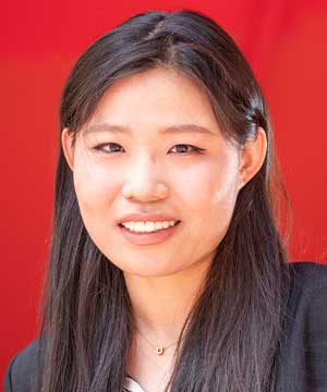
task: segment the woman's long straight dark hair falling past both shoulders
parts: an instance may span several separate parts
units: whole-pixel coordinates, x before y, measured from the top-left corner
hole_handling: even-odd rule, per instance
[[[263,93],[232,38],[192,10],[134,15],[78,58],[63,88],[59,131],[75,136],[116,81],[157,66],[191,76],[222,135],[240,148],[258,126],[267,137],[265,160],[238,194],[181,331],[166,391],[272,391],[290,287],[290,223],[282,233],[281,222],[291,207]],[[35,390],[118,392],[133,332],[130,297],[122,271],[87,233],[59,146]]]

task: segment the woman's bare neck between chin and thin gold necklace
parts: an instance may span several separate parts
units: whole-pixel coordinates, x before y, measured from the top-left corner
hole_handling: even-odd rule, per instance
[[[136,329],[154,344],[169,345],[179,339],[202,289],[210,260],[165,277],[124,272]]]

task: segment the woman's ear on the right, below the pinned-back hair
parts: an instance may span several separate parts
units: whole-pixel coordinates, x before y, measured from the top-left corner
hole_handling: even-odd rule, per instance
[[[258,126],[255,138],[246,142],[240,156],[240,187],[241,189],[261,169],[267,152],[266,132]]]

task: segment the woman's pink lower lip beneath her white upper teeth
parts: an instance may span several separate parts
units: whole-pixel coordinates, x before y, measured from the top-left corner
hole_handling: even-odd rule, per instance
[[[134,233],[124,226],[118,226],[122,235],[132,244],[136,245],[155,245],[168,240],[178,230],[181,222],[173,226],[161,229],[153,233]]]

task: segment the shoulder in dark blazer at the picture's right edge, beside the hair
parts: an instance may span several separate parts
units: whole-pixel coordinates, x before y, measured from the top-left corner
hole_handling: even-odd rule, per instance
[[[278,391],[327,391],[327,265],[292,262]]]

